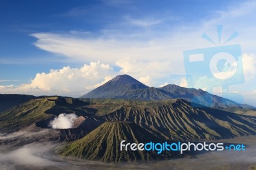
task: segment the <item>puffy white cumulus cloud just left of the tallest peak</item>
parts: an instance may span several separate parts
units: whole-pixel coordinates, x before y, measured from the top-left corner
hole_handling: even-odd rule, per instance
[[[111,66],[99,61],[84,65],[81,68],[66,66],[60,70],[50,70],[50,73],[37,73],[29,86],[46,90],[83,90],[86,86],[93,85],[112,73],[113,68]]]

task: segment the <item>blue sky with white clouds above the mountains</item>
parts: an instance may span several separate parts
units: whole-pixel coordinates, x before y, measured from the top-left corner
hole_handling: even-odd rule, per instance
[[[186,86],[183,51],[214,47],[201,38],[241,45],[243,84],[256,98],[256,4],[253,1],[0,1],[0,93],[79,97],[115,75],[148,86]],[[199,84],[195,88],[204,88]]]

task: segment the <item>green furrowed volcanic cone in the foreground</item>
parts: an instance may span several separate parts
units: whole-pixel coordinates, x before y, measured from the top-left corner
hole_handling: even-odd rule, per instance
[[[104,162],[134,162],[137,160],[163,159],[180,157],[179,153],[155,151],[120,151],[120,143],[154,143],[163,142],[134,123],[105,122],[90,134],[73,143],[69,143],[58,151],[63,156],[79,157],[86,160],[101,160]]]

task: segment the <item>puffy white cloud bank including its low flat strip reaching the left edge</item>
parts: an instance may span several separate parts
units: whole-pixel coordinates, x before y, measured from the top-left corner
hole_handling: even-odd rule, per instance
[[[113,68],[100,61],[84,64],[81,68],[65,66],[49,73],[37,73],[29,84],[0,86],[0,93],[80,97],[114,75]]]

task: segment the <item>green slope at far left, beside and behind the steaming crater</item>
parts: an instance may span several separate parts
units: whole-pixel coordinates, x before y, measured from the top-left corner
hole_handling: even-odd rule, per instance
[[[0,133],[15,132],[33,123],[47,128],[49,121],[61,113],[76,112],[77,116],[84,116],[88,112],[84,109],[87,104],[75,98],[36,98],[0,114]]]

